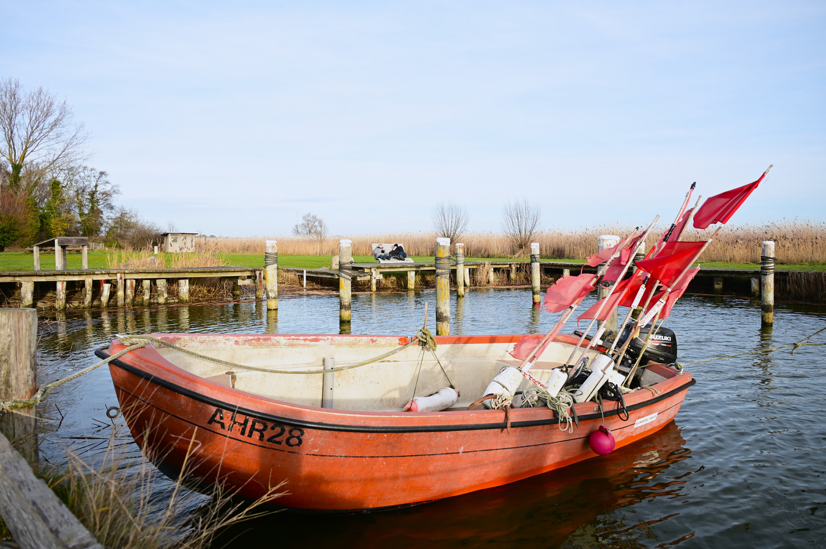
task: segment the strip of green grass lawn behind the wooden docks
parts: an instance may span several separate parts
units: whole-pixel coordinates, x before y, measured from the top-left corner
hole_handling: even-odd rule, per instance
[[[227,253],[225,255],[230,265],[239,267],[263,267],[263,253]],[[107,252],[96,250],[89,252],[89,268],[107,268]],[[278,265],[281,267],[295,267],[300,269],[317,269],[320,267],[330,267],[330,255],[286,255],[278,256]],[[356,263],[376,263],[372,255],[358,255],[353,258]],[[502,259],[510,258],[499,258]],[[465,258],[465,261],[486,261],[490,258]],[[494,258],[494,261],[497,259]],[[67,256],[69,269],[81,268],[81,256],[79,253],[69,253]],[[416,263],[433,263],[434,258],[415,256]],[[526,261],[525,259],[513,259],[511,261]],[[543,261],[558,261],[560,263],[585,263],[585,259],[543,259]],[[703,267],[722,267],[729,269],[759,269],[759,263],[721,263],[721,262],[700,262]],[[40,253],[40,268],[44,271],[55,269],[54,254]],[[826,271],[826,263],[808,263],[804,265],[777,265],[778,269],[789,271]],[[26,252],[0,252],[0,271],[31,271],[34,269],[34,256]]]

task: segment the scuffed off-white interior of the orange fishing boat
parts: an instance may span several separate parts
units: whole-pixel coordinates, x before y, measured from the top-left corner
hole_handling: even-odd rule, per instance
[[[398,336],[164,334],[156,337],[208,357],[296,372],[321,370],[325,357],[334,357],[335,367],[363,362],[398,348],[400,341]],[[414,388],[416,396],[423,396],[452,382],[460,396],[451,409],[466,409],[483,396],[491,379],[502,368],[520,363],[508,353],[514,342],[497,342],[497,339],[506,338],[469,336],[460,339],[463,343],[440,343],[436,355],[441,367],[430,349],[424,348],[423,353],[423,348],[414,343],[380,362],[335,372],[332,408],[400,411],[413,397]],[[572,349],[567,343],[550,343],[531,374],[539,381],[546,381],[553,367],[567,360]],[[158,351],[175,366],[220,385],[297,405],[321,405],[322,374],[258,372],[230,368],[173,348],[160,346]],[[596,354],[596,351],[588,353],[590,357]],[[527,386],[528,381],[523,381],[519,390]]]

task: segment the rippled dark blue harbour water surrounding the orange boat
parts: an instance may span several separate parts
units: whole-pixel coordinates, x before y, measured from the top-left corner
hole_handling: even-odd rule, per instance
[[[413,334],[425,301],[433,327],[433,291],[354,295],[352,333]],[[97,362],[93,350],[127,332],[339,333],[337,296],[282,296],[279,305],[278,315],[252,301],[69,314],[40,327],[40,381]],[[537,333],[555,317],[531,310],[529,291],[470,291],[453,301],[451,330]],[[793,342],[826,326],[826,308],[781,304],[774,329],[762,330],[757,302],[686,296],[667,326],[690,362]],[[563,471],[404,511],[275,514],[216,547],[824,547],[824,353],[689,367],[697,384],[676,422]],[[67,443],[99,451],[116,404],[106,368],[61,387],[41,406],[53,420],[42,456],[60,461]]]

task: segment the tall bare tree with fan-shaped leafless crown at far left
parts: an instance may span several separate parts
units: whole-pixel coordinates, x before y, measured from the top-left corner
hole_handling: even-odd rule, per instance
[[[0,131],[4,182],[38,201],[45,199],[51,177],[86,158],[88,135],[74,123],[69,105],[43,88],[25,92],[12,78],[0,82]]]

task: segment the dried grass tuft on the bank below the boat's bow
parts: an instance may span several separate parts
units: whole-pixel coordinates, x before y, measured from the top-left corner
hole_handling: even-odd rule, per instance
[[[187,461],[197,445],[193,433]],[[216,533],[273,510],[265,504],[283,495],[283,482],[254,502],[235,499],[221,487],[207,495],[172,481],[140,455],[127,454],[113,433],[106,452],[90,464],[68,452],[65,469],[50,485],[89,532],[108,549],[202,549]]]

